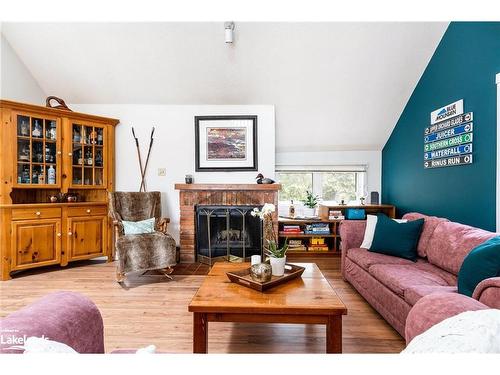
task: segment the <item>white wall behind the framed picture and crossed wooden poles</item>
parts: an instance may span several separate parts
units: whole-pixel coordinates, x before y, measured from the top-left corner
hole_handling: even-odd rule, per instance
[[[257,172],[195,172],[194,116],[250,114],[258,116],[258,168],[265,176],[274,176],[274,106],[271,105],[128,105],[71,104],[75,111],[120,119],[116,127],[116,190],[138,191],[139,164],[133,126],[139,138],[143,162],[146,159],[151,127],[155,126],[154,144],[147,171],[147,188],[163,193],[163,215],[171,218],[169,232],[179,239],[179,192],[175,183],[183,183],[192,174],[198,183],[255,183]],[[166,168],[165,177],[158,168]]]

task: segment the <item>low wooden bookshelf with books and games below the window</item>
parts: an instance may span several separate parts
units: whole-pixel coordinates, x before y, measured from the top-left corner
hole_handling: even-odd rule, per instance
[[[323,220],[321,218],[287,218],[280,217],[278,219],[278,229],[279,229],[279,243],[283,245],[285,240],[288,239],[289,243],[293,241],[301,241],[304,248],[303,249],[294,249],[290,247],[287,256],[338,256],[340,254],[340,235],[339,235],[339,224],[341,220]],[[325,227],[328,227],[328,234],[326,232],[312,234],[307,233],[306,228],[309,225],[318,225],[323,224]],[[301,232],[306,233],[292,233],[285,232],[286,227],[298,227]],[[321,247],[320,245],[312,245],[312,239],[315,239],[316,242],[323,242],[326,244],[324,250],[318,250],[317,248]]]

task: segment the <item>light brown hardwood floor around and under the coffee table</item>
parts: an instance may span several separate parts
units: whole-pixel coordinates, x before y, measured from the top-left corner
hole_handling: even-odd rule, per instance
[[[344,353],[397,353],[404,340],[340,276],[339,258],[313,261],[348,308],[343,318]],[[83,293],[99,307],[104,320],[106,352],[155,344],[158,351],[191,353],[192,314],[187,305],[208,267],[181,264],[174,280],[133,274],[125,286],[115,281],[115,264],[88,261],[68,268],[23,273],[0,282],[3,317],[58,290]],[[210,323],[209,353],[324,353],[325,327],[291,324]]]

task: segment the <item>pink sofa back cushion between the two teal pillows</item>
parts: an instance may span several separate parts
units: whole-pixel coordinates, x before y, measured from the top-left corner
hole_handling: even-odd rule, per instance
[[[430,263],[458,275],[465,256],[473,248],[496,235],[459,223],[440,223],[429,241],[427,259]]]

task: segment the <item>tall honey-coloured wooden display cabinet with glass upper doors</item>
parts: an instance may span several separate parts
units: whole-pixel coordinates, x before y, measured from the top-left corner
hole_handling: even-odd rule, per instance
[[[118,120],[0,100],[0,277],[107,256]],[[49,203],[72,194],[78,202]]]

